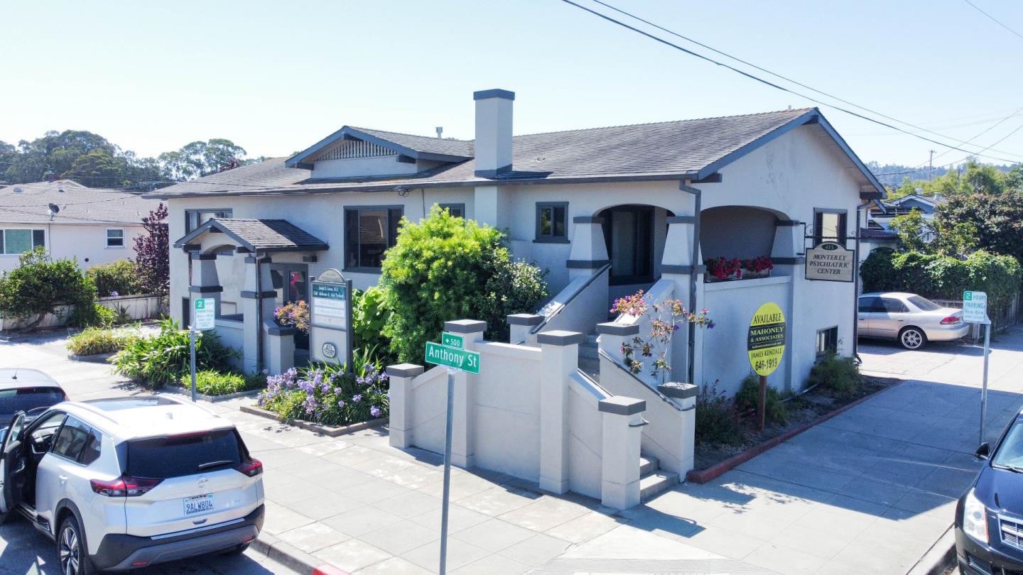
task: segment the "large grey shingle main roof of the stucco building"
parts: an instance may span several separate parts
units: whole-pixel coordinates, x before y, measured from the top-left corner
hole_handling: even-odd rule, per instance
[[[491,179],[475,176],[474,160],[445,164],[408,176],[313,179],[311,170],[287,168],[284,166],[284,159],[278,158],[259,165],[246,166],[215,176],[175,184],[151,195],[170,197],[206,193],[243,194],[247,193],[247,189],[280,193],[327,190],[370,191],[402,186],[517,183],[526,180],[557,183],[630,177],[678,179],[683,174],[695,174],[723,166],[735,156],[744,152],[744,148],[749,149],[747,146],[756,145],[772,132],[809,122],[815,122],[822,125],[825,130],[830,130],[830,126],[827,126],[816,108],[801,108],[515,136],[511,146],[513,171]],[[435,146],[430,147],[430,150],[436,153],[456,154],[455,152],[464,153],[466,150],[471,152],[474,145],[471,140],[412,136],[364,128],[354,130],[395,143],[400,140],[399,145],[404,147],[419,146],[422,148],[421,151],[427,151],[428,146]],[[840,139],[835,141],[841,147],[845,144],[839,142]],[[855,162],[858,162],[858,159]]]

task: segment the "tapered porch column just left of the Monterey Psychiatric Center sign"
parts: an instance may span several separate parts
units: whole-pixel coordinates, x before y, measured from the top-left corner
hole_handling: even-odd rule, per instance
[[[792,276],[792,282],[789,284],[791,290],[789,301],[792,305],[785,310],[790,334],[808,333],[803,326],[806,318],[799,314],[800,306],[796,305],[796,302],[803,298],[805,286],[802,280],[803,266],[806,262],[806,257],[803,255],[805,246],[802,222],[779,220],[774,224],[774,244],[770,250],[770,262],[774,265],[772,273]],[[787,346],[785,348],[785,357],[782,358],[782,361],[785,362],[785,371],[788,378],[783,384],[783,391],[798,391],[802,387],[804,374],[796,373],[796,367],[805,364],[801,356],[800,346]]]

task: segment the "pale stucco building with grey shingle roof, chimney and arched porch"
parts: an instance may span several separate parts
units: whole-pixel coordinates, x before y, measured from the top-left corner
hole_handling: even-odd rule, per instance
[[[549,268],[554,296],[534,340],[540,329],[593,333],[615,297],[647,290],[709,308],[717,323],[692,345],[678,331],[676,381],[737,390],[765,302],[788,321],[771,385],[801,389],[822,353],[851,353],[853,285],[805,279],[803,252],[845,241],[865,225],[863,201],[884,188],[819,110],[513,136],[511,92],[474,99],[475,140],[346,126],[293,158],[148,194],[170,208],[172,314],[187,322],[192,299],[214,297],[217,330],[243,350],[244,367],[283,367],[256,352],[277,349],[266,343],[273,308],[308,298],[328,268],[374,284],[401,218],[439,205],[506,229],[515,257]],[[774,268],[711,282],[703,260],[717,256],[766,256]]]

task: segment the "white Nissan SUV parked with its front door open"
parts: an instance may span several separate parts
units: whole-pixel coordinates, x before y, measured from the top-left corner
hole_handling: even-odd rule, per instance
[[[165,397],[58,403],[11,422],[0,521],[54,539],[64,575],[241,552],[263,527],[263,465],[234,425]]]

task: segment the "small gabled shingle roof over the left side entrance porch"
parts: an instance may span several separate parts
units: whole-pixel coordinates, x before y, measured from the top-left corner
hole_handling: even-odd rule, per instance
[[[299,252],[326,250],[322,239],[287,220],[255,220],[243,218],[213,218],[174,242],[175,248],[216,229],[226,233],[251,251]]]

